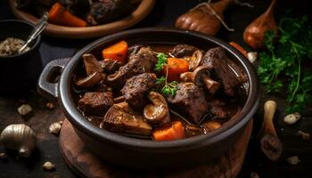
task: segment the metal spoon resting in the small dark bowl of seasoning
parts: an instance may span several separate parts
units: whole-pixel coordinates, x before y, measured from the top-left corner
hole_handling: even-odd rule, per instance
[[[45,29],[47,25],[48,18],[49,18],[49,13],[45,12],[42,18],[38,20],[35,28],[31,31],[26,43],[23,46],[21,46],[19,53],[24,52],[26,47],[32,42],[32,40],[34,40],[38,35],[41,34],[41,32]]]

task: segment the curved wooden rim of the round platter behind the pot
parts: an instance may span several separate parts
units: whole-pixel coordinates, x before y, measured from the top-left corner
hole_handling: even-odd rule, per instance
[[[37,23],[37,17],[33,16],[29,12],[23,12],[15,7],[16,0],[10,0],[10,8],[14,16],[21,20],[27,20],[33,24]],[[113,32],[120,31],[122,29],[129,28],[135,23],[143,20],[151,11],[156,3],[156,0],[142,0],[138,4],[134,12],[129,14],[127,17],[112,21],[111,23],[90,26],[86,28],[72,28],[60,25],[54,25],[49,23],[45,28],[45,35],[63,37],[63,38],[90,38],[90,37],[101,37]]]

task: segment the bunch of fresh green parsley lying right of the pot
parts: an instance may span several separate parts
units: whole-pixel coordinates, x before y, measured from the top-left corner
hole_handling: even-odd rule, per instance
[[[283,18],[278,30],[277,40],[273,31],[266,33],[259,79],[267,93],[287,93],[286,113],[300,112],[312,103],[312,68],[305,68],[312,62],[312,28],[304,16]]]

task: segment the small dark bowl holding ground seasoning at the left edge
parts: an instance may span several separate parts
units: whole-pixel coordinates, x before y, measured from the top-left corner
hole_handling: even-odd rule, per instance
[[[6,37],[27,40],[34,25],[23,20],[0,20],[0,41]],[[0,56],[0,94],[24,94],[35,88],[42,71],[39,53],[41,36],[29,45],[29,51],[11,56]]]

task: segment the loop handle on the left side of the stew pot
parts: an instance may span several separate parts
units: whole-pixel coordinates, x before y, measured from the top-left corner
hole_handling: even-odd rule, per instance
[[[70,61],[70,58],[57,59],[50,61],[45,66],[38,80],[38,93],[51,101],[57,101],[59,97],[59,80],[57,78],[62,75],[62,69],[64,69],[68,61]]]

